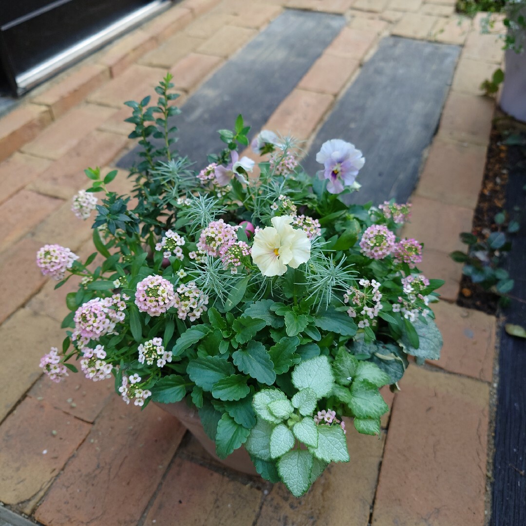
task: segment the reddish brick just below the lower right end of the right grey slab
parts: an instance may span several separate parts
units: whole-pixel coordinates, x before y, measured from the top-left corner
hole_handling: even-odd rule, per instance
[[[469,232],[473,211],[456,205],[448,205],[415,196],[412,198],[411,222],[403,227],[403,236],[414,238],[442,252],[462,250],[460,232]],[[434,276],[433,276],[434,277]]]

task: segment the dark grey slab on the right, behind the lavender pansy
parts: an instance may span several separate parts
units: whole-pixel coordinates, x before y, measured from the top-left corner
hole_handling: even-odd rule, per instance
[[[343,139],[366,159],[352,203],[406,201],[416,185],[422,153],[436,132],[460,53],[458,46],[386,37],[340,98],[302,165],[321,168],[323,142]]]

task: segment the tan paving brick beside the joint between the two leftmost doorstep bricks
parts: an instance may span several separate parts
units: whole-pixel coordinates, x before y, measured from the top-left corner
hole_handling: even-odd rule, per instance
[[[113,112],[112,108],[104,106],[74,108],[48,126],[45,133],[24,145],[22,151],[47,159],[60,159]]]

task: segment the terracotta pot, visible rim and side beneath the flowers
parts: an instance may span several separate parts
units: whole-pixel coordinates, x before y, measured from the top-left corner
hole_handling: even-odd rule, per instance
[[[156,405],[177,418],[183,426],[194,435],[210,456],[214,457],[218,462],[227,468],[235,469],[241,473],[259,476],[244,447],[236,449],[226,459],[220,459],[217,456],[216,443],[213,440],[210,440],[205,433],[203,424],[201,423],[201,419],[199,418],[199,414],[195,407],[188,407],[184,400],[175,403],[157,403]]]

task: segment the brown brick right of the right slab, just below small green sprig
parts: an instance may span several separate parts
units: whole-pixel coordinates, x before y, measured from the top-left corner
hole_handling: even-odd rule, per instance
[[[495,103],[488,97],[450,92],[438,135],[470,144],[487,145]]]

